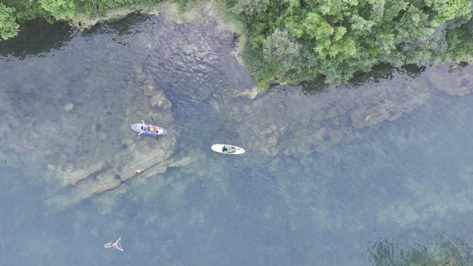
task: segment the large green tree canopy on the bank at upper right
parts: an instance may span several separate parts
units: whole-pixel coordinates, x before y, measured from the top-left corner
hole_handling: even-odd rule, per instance
[[[339,84],[380,63],[431,64],[452,52],[447,32],[466,23],[472,12],[470,0],[226,2],[247,25],[246,64],[268,66],[252,70],[263,86],[270,79],[295,83],[319,75]]]

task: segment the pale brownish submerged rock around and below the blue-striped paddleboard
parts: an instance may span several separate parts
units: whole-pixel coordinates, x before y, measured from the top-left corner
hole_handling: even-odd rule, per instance
[[[144,93],[109,95],[121,97],[120,102],[127,106],[120,126],[111,126],[106,119],[102,119],[95,121],[95,124],[104,125],[99,128],[75,127],[74,131],[80,137],[73,142],[64,142],[59,137],[59,142],[63,143],[63,152],[45,158],[47,171],[62,183],[56,196],[49,200],[54,207],[62,209],[85,198],[116,189],[131,178],[156,176],[165,173],[168,167],[185,167],[194,162],[190,157],[174,157],[176,135],[169,134],[156,139],[149,135],[138,135],[129,128],[140,120],[149,120],[149,117],[159,117],[158,125],[168,131],[172,131],[174,124],[171,103],[165,93],[154,86],[152,79],[140,66],[135,64],[133,69],[136,79],[126,90],[133,90],[133,84],[142,84]],[[75,123],[87,124],[87,121],[77,118]],[[136,169],[145,171],[136,175]]]

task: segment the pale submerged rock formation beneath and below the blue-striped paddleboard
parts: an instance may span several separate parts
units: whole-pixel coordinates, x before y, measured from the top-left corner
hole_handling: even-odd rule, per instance
[[[136,78],[127,91],[133,91],[134,84],[142,84],[144,93],[124,93],[122,96],[124,97],[122,100],[127,103],[124,125],[120,127],[120,133],[126,132],[124,138],[118,143],[116,139],[109,140],[106,137],[100,140],[99,133],[97,135],[99,140],[93,137],[86,140],[91,145],[89,154],[77,158],[77,162],[50,167],[63,179],[64,190],[73,191],[73,193],[59,192],[57,198],[50,200],[53,204],[59,207],[68,206],[84,198],[120,187],[122,182],[131,178],[155,176],[165,173],[167,167],[184,167],[192,164],[192,158],[173,157],[176,145],[174,134],[160,136],[156,140],[148,135],[138,135],[129,129],[130,124],[140,122],[142,119],[149,120],[149,117],[159,117],[159,125],[168,130],[172,130],[174,124],[171,102],[163,91],[155,88],[152,79],[147,77],[139,64],[134,64],[133,71]],[[93,149],[93,144],[97,141],[108,142],[108,146],[115,146],[115,149],[112,152],[100,149],[100,146],[98,149]],[[75,142],[72,145],[83,146],[84,142]],[[116,148],[117,146],[120,149]],[[145,171],[136,175],[134,173],[136,169]]]

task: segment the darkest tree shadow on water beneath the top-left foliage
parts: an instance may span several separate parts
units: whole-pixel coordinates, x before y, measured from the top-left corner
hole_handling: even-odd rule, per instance
[[[24,59],[48,53],[67,44],[75,32],[66,23],[51,24],[42,19],[21,24],[20,30],[17,37],[0,41],[0,56]]]

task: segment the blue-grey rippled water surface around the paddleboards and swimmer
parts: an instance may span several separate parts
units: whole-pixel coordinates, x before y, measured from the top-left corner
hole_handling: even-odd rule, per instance
[[[409,265],[446,250],[473,262],[473,94],[434,81],[470,88],[472,66],[248,99],[237,96],[254,82],[233,34],[212,19],[129,17],[85,33],[38,23],[0,43],[0,265]],[[136,73],[171,103],[160,140],[129,129],[151,122],[127,106],[143,95]],[[384,121],[353,122],[353,110],[380,106]],[[95,133],[75,134],[83,127]],[[111,157],[131,136],[142,146],[174,137],[173,156],[193,162],[51,204],[69,195],[55,169]],[[246,153],[212,153],[222,142]],[[123,253],[103,248],[119,236]]]

